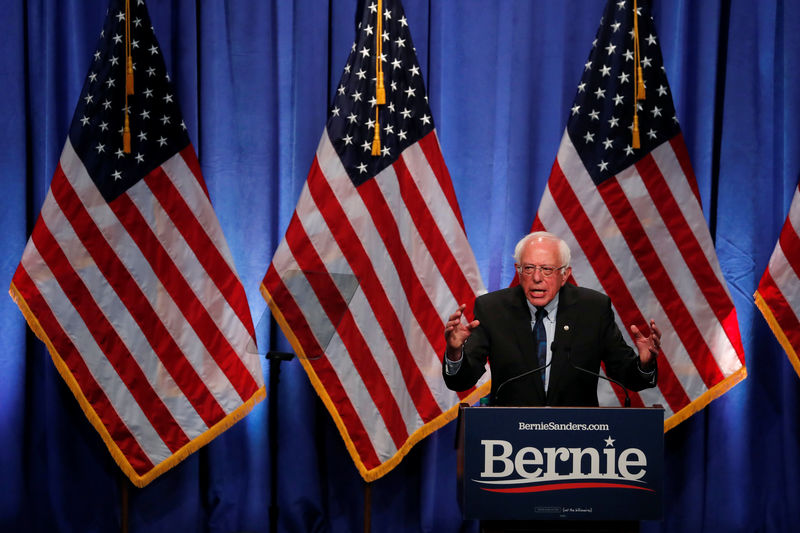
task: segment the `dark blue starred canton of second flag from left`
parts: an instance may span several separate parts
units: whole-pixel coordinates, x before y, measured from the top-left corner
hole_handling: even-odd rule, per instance
[[[360,3],[356,39],[331,105],[327,131],[350,179],[358,186],[391,165],[410,145],[433,131],[433,118],[408,21],[399,2],[383,2],[386,104],[379,110],[381,155],[375,135],[375,39],[378,5]]]

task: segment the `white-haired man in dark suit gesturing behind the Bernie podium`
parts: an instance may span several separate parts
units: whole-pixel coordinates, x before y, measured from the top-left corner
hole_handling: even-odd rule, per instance
[[[551,233],[531,233],[517,243],[519,285],[478,297],[472,322],[462,321],[462,304],[445,325],[442,374],[448,388],[475,385],[487,359],[494,405],[597,406],[592,373],[601,361],[607,375],[628,389],[655,386],[661,346],[655,322],[650,336],[631,326],[636,351],[631,349],[611,300],[566,283],[569,261],[569,247]]]

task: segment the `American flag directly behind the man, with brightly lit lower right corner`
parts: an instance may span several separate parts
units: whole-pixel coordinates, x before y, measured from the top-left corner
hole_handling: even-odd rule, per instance
[[[569,243],[575,282],[611,298],[621,331],[636,324],[649,334],[656,320],[658,386],[632,403],[662,404],[669,429],[746,369],[649,2],[635,5],[606,4],[533,229]],[[645,98],[634,100],[638,65]],[[601,382],[601,404],[618,404],[620,394]]]

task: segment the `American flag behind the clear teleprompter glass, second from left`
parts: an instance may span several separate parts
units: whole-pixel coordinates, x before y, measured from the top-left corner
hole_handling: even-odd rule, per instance
[[[485,394],[458,395],[441,377],[444,321],[460,303],[471,309],[484,288],[402,6],[374,0],[358,13],[325,131],[261,289],[369,481],[454,418],[460,399]]]

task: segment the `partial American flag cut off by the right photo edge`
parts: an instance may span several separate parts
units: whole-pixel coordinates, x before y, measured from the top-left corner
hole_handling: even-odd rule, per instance
[[[800,184],[754,295],[764,318],[800,375]]]

